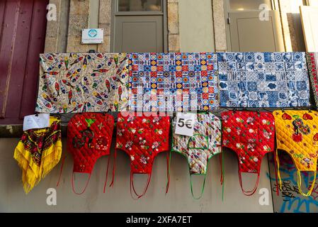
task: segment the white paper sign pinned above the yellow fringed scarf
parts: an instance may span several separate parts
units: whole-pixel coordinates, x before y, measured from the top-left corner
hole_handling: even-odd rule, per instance
[[[23,120],[23,131],[34,128],[50,127],[50,114],[38,114],[25,116]]]

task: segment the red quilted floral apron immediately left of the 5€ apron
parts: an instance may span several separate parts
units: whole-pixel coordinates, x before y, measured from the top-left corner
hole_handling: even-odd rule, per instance
[[[150,116],[149,113],[134,116],[128,112],[118,114],[116,149],[130,156],[130,194],[137,199],[144,196],[152,175],[154,157],[169,150],[169,116]],[[133,175],[147,174],[144,192],[137,194]],[[133,197],[133,196],[132,196]]]

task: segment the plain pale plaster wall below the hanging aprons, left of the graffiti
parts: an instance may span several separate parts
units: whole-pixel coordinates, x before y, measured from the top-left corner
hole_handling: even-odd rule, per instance
[[[115,187],[107,189],[103,194],[106,175],[107,157],[96,163],[91,181],[82,195],[72,192],[72,157],[69,155],[64,164],[62,181],[57,188],[57,206],[47,206],[46,191],[56,188],[60,163],[43,179],[28,195],[24,194],[21,184],[21,170],[13,160],[13,150],[17,139],[0,138],[0,212],[273,212],[270,205],[259,205],[259,194],[244,196],[239,187],[237,175],[237,157],[225,151],[225,199],[222,202],[222,186],[220,185],[219,157],[212,157],[208,168],[205,193],[200,200],[191,196],[190,178],[186,159],[174,153],[171,161],[171,184],[169,193],[166,187],[166,154],[161,153],[154,162],[152,181],[144,198],[133,200],[130,197],[130,161],[123,152],[118,153]],[[65,140],[63,141],[66,152]],[[261,168],[262,187],[270,190],[267,158]],[[111,172],[111,171],[110,171]],[[111,178],[111,177],[110,177]],[[135,177],[137,192],[142,191],[147,177]],[[75,176],[78,190],[84,185],[86,176]],[[109,178],[108,178],[109,179]],[[254,176],[243,177],[244,186],[249,189],[254,185]],[[201,178],[193,177],[194,191],[200,191]]]

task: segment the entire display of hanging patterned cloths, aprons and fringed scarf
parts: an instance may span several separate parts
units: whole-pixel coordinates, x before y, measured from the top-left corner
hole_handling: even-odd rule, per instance
[[[221,120],[211,111],[220,107],[308,107],[310,87],[318,108],[317,67],[318,52],[47,53],[40,55],[35,111],[75,114],[67,127],[75,194],[84,193],[98,158],[110,155],[115,120],[106,113],[118,111],[115,149],[130,157],[130,193],[134,199],[147,192],[154,158],[169,150],[170,155],[176,152],[186,157],[191,194],[200,199],[208,162],[222,153],[222,147],[237,153],[239,184],[245,195],[256,192],[263,157],[273,153],[279,166],[278,150],[284,150],[297,167],[300,194],[310,196],[314,181],[303,193],[301,173],[313,172],[316,177],[318,112],[234,110],[222,112]],[[181,111],[198,111],[192,136],[175,133],[176,117],[170,127],[169,116],[157,116],[157,112]],[[50,127],[24,131],[16,146],[13,157],[21,167],[27,194],[60,160],[60,121],[50,116]],[[169,166],[169,153],[167,161]],[[89,175],[80,193],[74,189],[75,172]],[[169,180],[169,169],[167,172]],[[113,177],[114,173],[115,165]],[[244,189],[242,173],[257,175],[253,189]],[[135,174],[148,175],[141,194],[134,187]],[[204,176],[198,196],[193,193],[193,175]],[[281,187],[279,172],[278,179]]]

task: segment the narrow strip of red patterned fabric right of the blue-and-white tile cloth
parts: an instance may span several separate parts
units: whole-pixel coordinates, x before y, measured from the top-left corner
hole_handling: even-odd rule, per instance
[[[318,52],[308,52],[306,54],[310,82],[314,92],[314,101],[318,108]]]

